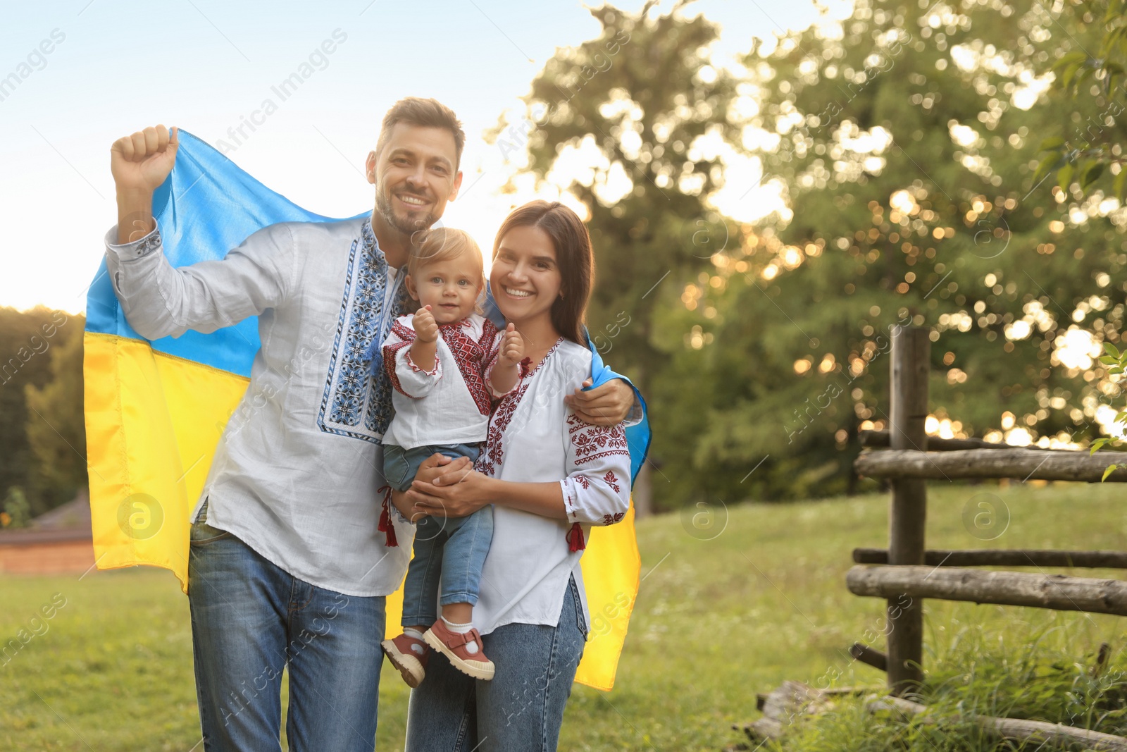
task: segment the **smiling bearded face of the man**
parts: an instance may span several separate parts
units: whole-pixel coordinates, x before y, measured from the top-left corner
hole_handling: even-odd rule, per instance
[[[405,235],[437,222],[462,184],[456,159],[454,134],[446,129],[396,123],[380,153],[367,158],[380,216]]]

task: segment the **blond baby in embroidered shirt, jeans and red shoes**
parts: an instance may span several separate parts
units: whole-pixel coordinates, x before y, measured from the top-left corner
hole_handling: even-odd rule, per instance
[[[394,387],[396,408],[383,435],[383,475],[399,490],[410,488],[419,465],[436,452],[477,460],[492,399],[516,386],[524,356],[523,340],[512,324],[498,333],[476,312],[485,274],[481,250],[469,235],[449,228],[428,230],[411,251],[407,274],[407,292],[419,309],[399,317],[383,343],[383,368]],[[494,365],[487,371],[490,361]],[[396,546],[390,490],[388,495],[380,530],[387,545]],[[491,506],[465,517],[418,521],[415,557],[403,584],[403,632],[381,643],[410,687],[418,687],[426,674],[428,646],[470,676],[492,679],[494,663],[472,623],[491,539]]]

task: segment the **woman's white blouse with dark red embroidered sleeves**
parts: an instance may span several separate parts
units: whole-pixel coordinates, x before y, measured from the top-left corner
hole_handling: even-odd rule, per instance
[[[515,483],[558,481],[568,519],[494,507],[492,545],[473,610],[482,634],[514,622],[559,623],[569,576],[583,593],[579,558],[591,525],[613,524],[629,508],[624,428],[584,423],[564,404],[588,375],[591,351],[560,339],[535,369],[522,369],[489,421],[477,469]],[[586,598],[580,600],[586,614]]]

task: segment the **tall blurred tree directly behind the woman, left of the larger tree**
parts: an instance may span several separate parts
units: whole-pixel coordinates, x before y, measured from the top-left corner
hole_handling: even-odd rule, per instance
[[[526,140],[527,170],[541,184],[554,178],[586,207],[598,269],[591,336],[647,395],[668,360],[655,345],[653,313],[709,266],[709,241],[727,232],[706,203],[722,183],[720,161],[694,144],[710,133],[737,135],[728,122],[735,82],[708,65],[717,27],[703,17],[682,19],[685,5],[660,16],[653,2],[636,15],[592,9],[598,37],[549,60],[524,98],[526,120],[495,134],[506,151]],[[553,175],[577,160],[589,169]],[[678,434],[680,406],[650,412],[658,468],[675,466],[691,439]],[[663,489],[667,476],[659,469],[655,479]],[[640,512],[647,483],[642,477],[635,494]]]

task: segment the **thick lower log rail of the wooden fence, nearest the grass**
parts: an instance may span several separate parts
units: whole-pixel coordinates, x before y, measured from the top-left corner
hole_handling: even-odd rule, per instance
[[[1127,582],[1026,572],[929,566],[854,566],[845,575],[854,595],[1030,605],[1057,611],[1127,616]]]

